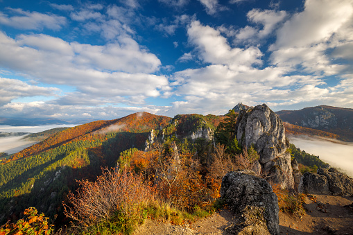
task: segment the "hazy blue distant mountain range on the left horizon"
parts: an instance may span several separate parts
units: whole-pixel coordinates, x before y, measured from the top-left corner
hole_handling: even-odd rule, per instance
[[[0,125],[64,125],[64,124],[83,124],[94,121],[93,119],[51,119],[51,118],[8,118],[0,117]]]

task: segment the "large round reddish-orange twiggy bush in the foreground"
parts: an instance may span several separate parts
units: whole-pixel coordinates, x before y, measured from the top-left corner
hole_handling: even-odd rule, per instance
[[[130,234],[144,220],[144,209],[155,201],[153,188],[128,170],[105,169],[96,182],[79,183],[76,195],[68,195],[70,204],[64,204],[64,214],[90,233],[104,234],[108,229]]]

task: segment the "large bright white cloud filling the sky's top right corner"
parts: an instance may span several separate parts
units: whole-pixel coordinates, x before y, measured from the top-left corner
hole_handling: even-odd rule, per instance
[[[337,74],[346,67],[335,64],[332,56],[349,58],[340,46],[350,49],[352,20],[351,0],[305,1],[304,11],[293,15],[277,31],[277,40],[270,46],[270,60],[280,66],[300,65],[304,71],[327,76]],[[334,49],[332,55],[327,53],[329,49]]]

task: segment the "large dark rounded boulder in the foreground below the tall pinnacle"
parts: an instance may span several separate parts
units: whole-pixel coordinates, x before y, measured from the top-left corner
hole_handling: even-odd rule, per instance
[[[235,214],[234,234],[279,234],[277,195],[253,171],[232,171],[222,180],[221,198]]]

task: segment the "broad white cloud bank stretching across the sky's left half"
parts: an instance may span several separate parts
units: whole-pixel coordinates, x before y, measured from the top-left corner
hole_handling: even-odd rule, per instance
[[[159,69],[160,60],[130,37],[92,46],[48,35],[20,35],[13,40],[0,33],[0,47],[2,67],[40,82],[76,87],[81,94],[126,96],[126,102],[143,103],[168,87],[166,77],[149,74]]]

